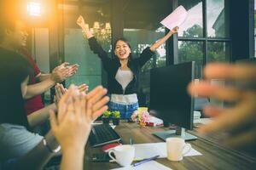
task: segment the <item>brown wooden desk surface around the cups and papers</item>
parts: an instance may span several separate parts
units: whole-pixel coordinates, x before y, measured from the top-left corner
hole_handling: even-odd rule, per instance
[[[140,128],[136,123],[121,123],[115,127],[115,131],[119,133],[123,144],[129,144],[132,138],[134,144],[163,142],[154,137],[152,133],[167,130],[164,127],[143,127]],[[195,133],[194,133],[195,134]],[[186,156],[183,161],[168,161],[166,158],[160,158],[156,161],[171,167],[172,169],[256,169],[256,159],[250,156],[241,154],[235,150],[226,149],[223,146],[212,143],[207,139],[199,137],[194,141],[189,142],[195,150],[201,152],[202,156]],[[100,148],[91,148],[86,146],[86,156],[84,158],[84,169],[102,170],[119,167],[117,163],[91,162],[90,156],[93,153],[102,152]]]

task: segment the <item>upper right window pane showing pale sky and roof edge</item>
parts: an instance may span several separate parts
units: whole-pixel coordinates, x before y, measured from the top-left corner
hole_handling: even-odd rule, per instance
[[[207,0],[208,37],[230,37],[228,0]]]

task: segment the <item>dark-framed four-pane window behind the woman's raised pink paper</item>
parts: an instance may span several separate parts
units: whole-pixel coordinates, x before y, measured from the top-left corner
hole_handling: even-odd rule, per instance
[[[177,0],[189,17],[178,33],[176,63],[195,61],[195,77],[210,62],[230,61],[229,0]]]

